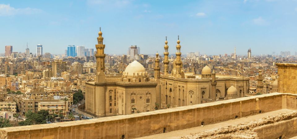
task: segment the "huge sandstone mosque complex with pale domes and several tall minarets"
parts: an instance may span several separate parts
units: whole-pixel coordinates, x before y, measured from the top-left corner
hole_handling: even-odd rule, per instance
[[[216,74],[208,66],[201,74],[184,73],[180,41],[176,59],[168,73],[168,48],[165,41],[164,74],[160,75],[160,59],[155,59],[154,79],[149,78],[143,65],[130,63],[123,75],[105,75],[105,53],[102,32],[96,44],[97,73],[93,82],[86,82],[86,111],[98,116],[127,115],[157,109],[181,107],[235,99],[249,92],[249,78]]]

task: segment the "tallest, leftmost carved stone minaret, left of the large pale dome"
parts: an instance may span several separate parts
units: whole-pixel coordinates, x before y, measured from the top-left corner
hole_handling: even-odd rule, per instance
[[[105,82],[105,53],[104,53],[105,44],[103,44],[101,27],[98,35],[99,35],[99,37],[97,38],[98,44],[96,44],[97,54],[95,55],[97,58],[96,82]]]

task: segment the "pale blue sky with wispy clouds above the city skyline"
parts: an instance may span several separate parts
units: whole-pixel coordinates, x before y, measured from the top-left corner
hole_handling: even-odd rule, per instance
[[[95,48],[101,27],[106,54],[295,54],[297,0],[63,0],[0,1],[0,53],[64,54],[68,45]]]

